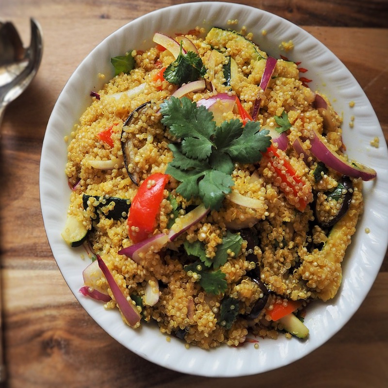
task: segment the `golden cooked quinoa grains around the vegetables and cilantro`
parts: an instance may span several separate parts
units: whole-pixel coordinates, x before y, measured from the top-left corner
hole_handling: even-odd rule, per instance
[[[248,114],[260,99],[255,121],[262,129],[279,129],[282,117],[288,144],[276,154],[263,153],[257,162],[234,162],[233,184],[219,208],[210,209],[174,241],[151,246],[138,260],[119,253],[135,243],[131,236],[139,232],[136,226],[129,230],[127,222],[139,188],[146,178],[164,174],[174,160],[169,146],[177,139],[163,125],[161,108],[181,85],[157,76],[162,68],[174,65],[176,58],[169,49],[161,45],[145,51],[130,48],[133,69],[128,74],[119,72],[93,94],[68,142],[65,173],[72,188],[68,216],[85,227],[84,246],[103,260],[127,301],[141,313],[142,320],[132,326],[156,322],[167,336],[205,349],[223,343],[239,346],[248,335],[275,339],[284,333],[284,325],[271,318],[274,304],[301,301],[294,314],[304,316],[310,302],[333,298],[341,283],[345,250],[363,210],[361,178],[348,178],[349,186],[345,185],[343,174],[310,152],[314,130],[342,155],[339,115],[324,96],[326,109],[316,108],[317,92],[300,80],[297,65],[285,59],[277,59],[263,90],[259,85],[268,55],[250,42],[252,33],[242,33],[243,45],[235,32],[226,34],[231,38],[225,41],[217,41],[217,36],[201,28],[184,35],[194,43],[205,68],[200,77],[205,87],[184,97],[198,103],[220,94],[237,96]],[[229,61],[237,71],[228,81]],[[124,126],[130,114],[130,125]],[[233,119],[243,120],[237,105],[219,112],[219,122]],[[111,140],[101,136],[108,130]],[[300,139],[305,153],[293,146]],[[122,142],[131,146],[132,158],[126,163]],[[168,235],[174,221],[201,204],[197,197],[180,194],[179,183],[168,177],[149,236]],[[110,216],[117,206],[111,198],[126,201],[129,211]],[[249,201],[255,206],[246,205]],[[217,252],[228,236],[237,236],[239,249],[228,249],[225,262],[216,267]],[[204,263],[200,269],[187,270],[198,259],[187,253],[187,246],[194,244],[203,247],[209,268],[213,265],[220,271],[225,282],[222,291],[207,292],[203,287]],[[108,295],[106,309],[117,308],[116,296],[102,273],[85,285],[90,292],[96,289]],[[155,296],[152,303],[147,299],[150,290]],[[127,322],[124,316],[123,320]]]

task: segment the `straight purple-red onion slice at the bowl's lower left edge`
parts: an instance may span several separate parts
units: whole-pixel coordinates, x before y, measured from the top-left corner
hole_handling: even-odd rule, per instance
[[[109,271],[108,267],[104,263],[104,260],[101,259],[99,255],[97,255],[98,266],[101,268],[102,273],[105,275],[105,278],[109,284],[109,287],[112,290],[113,296],[116,299],[117,306],[119,307],[121,313],[127,322],[132,326],[136,326],[137,323],[141,320],[141,315],[137,310],[136,306],[132,304],[131,299],[127,299],[127,297],[120,290],[116,281],[114,280],[111,271]]]

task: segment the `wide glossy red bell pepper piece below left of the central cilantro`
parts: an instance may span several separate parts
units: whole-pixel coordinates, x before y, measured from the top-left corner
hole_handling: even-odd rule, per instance
[[[155,230],[155,220],[169,176],[155,173],[146,178],[129,208],[128,234],[135,243],[145,240]]]

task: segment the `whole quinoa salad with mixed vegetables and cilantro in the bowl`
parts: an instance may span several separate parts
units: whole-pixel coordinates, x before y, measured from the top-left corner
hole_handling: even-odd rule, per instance
[[[346,156],[303,58],[254,41],[244,28],[155,32],[111,59],[66,138],[62,237],[87,253],[80,292],[186,347],[306,339],[376,178]]]

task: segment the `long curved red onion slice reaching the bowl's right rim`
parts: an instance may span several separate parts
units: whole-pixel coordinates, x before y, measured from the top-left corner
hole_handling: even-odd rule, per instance
[[[324,137],[316,129],[311,130],[310,152],[327,167],[352,178],[371,180],[376,178],[376,171],[358,162],[347,161],[329,148]]]

